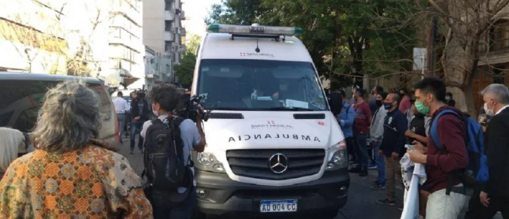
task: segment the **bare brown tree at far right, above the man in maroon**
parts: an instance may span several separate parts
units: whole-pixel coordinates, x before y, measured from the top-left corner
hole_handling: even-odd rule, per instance
[[[493,39],[490,33],[506,19],[509,0],[428,1],[431,7],[422,11],[438,19],[438,38],[442,39],[433,51],[440,58],[437,61],[441,69],[431,74],[443,72],[446,85],[463,92],[467,110],[474,116],[477,114],[474,94],[477,94],[472,89],[472,80],[479,64],[491,65],[489,48],[502,43],[502,39]]]

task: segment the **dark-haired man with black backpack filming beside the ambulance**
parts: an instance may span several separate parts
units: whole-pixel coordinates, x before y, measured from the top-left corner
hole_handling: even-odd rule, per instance
[[[180,94],[171,84],[155,85],[150,91],[152,111],[157,119],[145,122],[145,171],[150,185],[145,189],[151,200],[154,219],[188,219],[195,203],[191,149],[203,152],[205,134],[201,118],[172,115]]]

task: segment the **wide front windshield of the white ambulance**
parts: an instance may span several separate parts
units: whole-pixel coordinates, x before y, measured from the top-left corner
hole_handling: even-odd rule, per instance
[[[308,62],[202,60],[197,93],[207,95],[206,108],[217,110],[327,110]]]

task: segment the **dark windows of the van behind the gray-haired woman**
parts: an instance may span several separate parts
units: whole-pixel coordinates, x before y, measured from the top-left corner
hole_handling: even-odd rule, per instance
[[[0,80],[0,126],[33,130],[46,92],[60,81]],[[89,84],[101,101],[103,119],[111,118],[109,95],[100,84]],[[104,100],[106,98],[107,101]]]

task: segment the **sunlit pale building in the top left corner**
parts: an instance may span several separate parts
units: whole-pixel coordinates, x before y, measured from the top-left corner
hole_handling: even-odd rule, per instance
[[[58,1],[58,0],[55,0]],[[0,1],[0,71],[66,73],[58,4]]]

